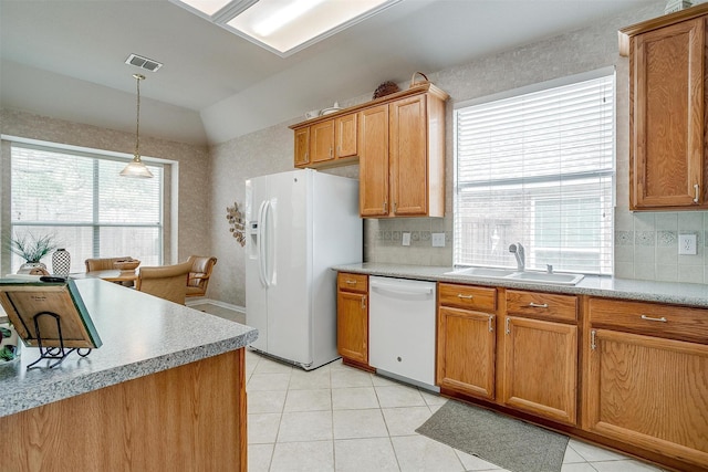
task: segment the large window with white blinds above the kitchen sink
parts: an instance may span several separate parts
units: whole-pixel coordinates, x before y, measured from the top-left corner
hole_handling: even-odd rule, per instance
[[[611,274],[614,72],[455,111],[455,264]]]

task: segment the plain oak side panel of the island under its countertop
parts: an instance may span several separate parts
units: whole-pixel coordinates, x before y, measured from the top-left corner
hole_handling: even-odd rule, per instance
[[[0,470],[246,471],[243,349],[0,419]]]

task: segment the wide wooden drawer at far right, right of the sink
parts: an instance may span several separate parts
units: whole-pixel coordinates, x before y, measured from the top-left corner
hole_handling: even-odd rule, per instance
[[[590,323],[593,327],[708,344],[708,310],[591,298]]]

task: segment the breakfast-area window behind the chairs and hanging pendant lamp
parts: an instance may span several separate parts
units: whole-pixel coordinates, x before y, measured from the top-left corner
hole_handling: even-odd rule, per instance
[[[125,160],[31,145],[11,145],[11,224],[14,238],[52,235],[84,260],[129,255],[159,265],[163,255],[162,165],[152,179],[119,177]],[[12,271],[24,261],[13,254]],[[51,270],[51,258],[42,260]]]

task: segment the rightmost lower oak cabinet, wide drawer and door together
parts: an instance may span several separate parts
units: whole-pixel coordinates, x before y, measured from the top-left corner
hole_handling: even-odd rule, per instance
[[[587,315],[583,429],[708,470],[708,310],[592,297]]]

